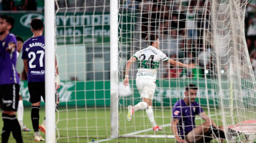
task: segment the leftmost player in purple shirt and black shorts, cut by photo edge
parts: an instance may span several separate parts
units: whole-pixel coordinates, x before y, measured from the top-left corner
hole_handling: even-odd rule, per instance
[[[16,142],[23,142],[19,122],[16,118],[19,103],[19,76],[16,71],[17,41],[9,33],[14,26],[10,16],[0,16],[0,104],[2,109],[2,142],[8,142],[10,133]]]

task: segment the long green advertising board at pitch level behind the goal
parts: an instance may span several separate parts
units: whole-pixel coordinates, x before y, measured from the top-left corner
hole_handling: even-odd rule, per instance
[[[207,105],[207,98],[210,105],[214,104],[214,101],[216,101],[216,99],[214,100],[214,97],[217,95],[213,90],[213,86],[215,86],[213,81],[208,81],[208,84],[205,84],[205,80],[193,81],[191,79],[170,79],[157,81],[154,105],[173,105],[173,103],[184,96],[184,87],[191,83],[199,86],[198,99],[200,99],[200,101],[198,102],[201,103],[201,105]],[[208,90],[204,90],[205,85]],[[122,82],[120,82],[119,88],[122,90]],[[61,88],[58,91],[60,93],[61,106],[110,106],[110,81],[61,82]],[[134,105],[140,102],[136,81],[133,81],[133,88],[126,91],[128,94],[119,92],[119,102],[121,105]],[[24,105],[30,105],[28,102],[30,94],[28,93],[27,81],[20,82],[20,93],[22,94]]]

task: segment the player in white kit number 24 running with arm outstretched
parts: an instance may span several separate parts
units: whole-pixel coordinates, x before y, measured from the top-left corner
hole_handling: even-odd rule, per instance
[[[183,64],[179,61],[168,58],[163,52],[159,50],[159,39],[156,34],[149,34],[146,36],[146,42],[149,47],[140,50],[129,59],[126,63],[125,79],[123,84],[129,85],[129,71],[133,62],[138,62],[138,72],[136,78],[136,85],[140,93],[142,102],[135,106],[128,106],[127,120],[131,121],[131,117],[134,112],[142,109],[146,109],[149,121],[152,124],[153,131],[158,132],[161,127],[157,126],[154,119],[152,110],[152,100],[155,93],[155,81],[157,79],[157,68],[160,61],[167,62],[170,65],[177,65],[180,67],[195,68],[196,64]]]

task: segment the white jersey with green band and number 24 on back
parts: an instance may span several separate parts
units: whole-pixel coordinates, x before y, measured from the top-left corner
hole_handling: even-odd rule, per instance
[[[161,50],[149,46],[133,55],[138,62],[137,78],[157,79],[157,68],[161,60],[167,61],[169,58]]]

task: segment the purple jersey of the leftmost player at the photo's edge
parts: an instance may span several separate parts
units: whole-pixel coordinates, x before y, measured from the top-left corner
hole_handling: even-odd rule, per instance
[[[0,85],[19,84],[19,75],[16,71],[17,50],[13,53],[6,52],[8,44],[17,41],[13,34],[9,33],[4,40],[0,41]]]

